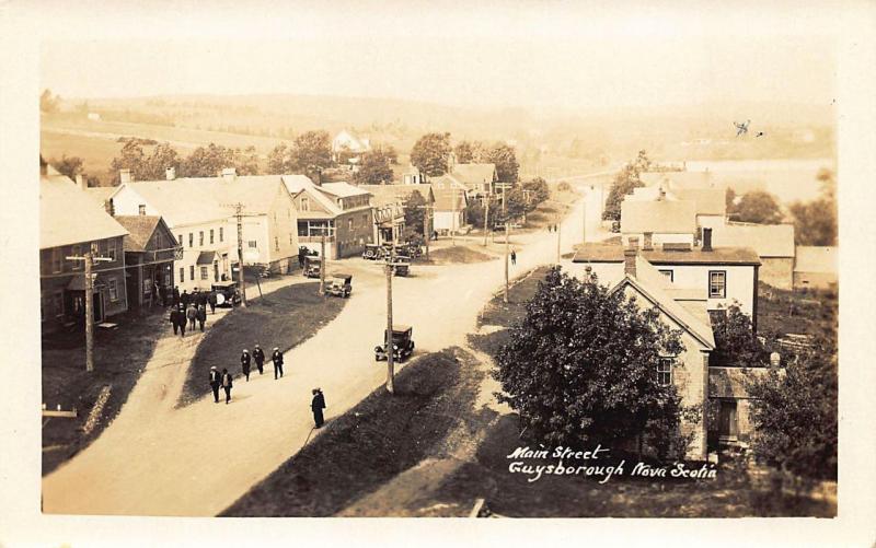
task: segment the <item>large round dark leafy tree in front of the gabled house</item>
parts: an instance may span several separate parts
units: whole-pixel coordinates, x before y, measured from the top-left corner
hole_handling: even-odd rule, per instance
[[[546,446],[677,431],[680,397],[656,371],[661,357],[682,350],[657,310],[554,267],[497,353],[497,397]]]

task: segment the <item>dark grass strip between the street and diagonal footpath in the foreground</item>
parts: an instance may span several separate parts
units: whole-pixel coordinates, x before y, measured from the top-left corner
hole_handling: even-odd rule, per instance
[[[241,497],[223,516],[330,516],[435,451],[473,406],[482,373],[451,348],[419,358]],[[462,357],[465,360],[466,357]]]

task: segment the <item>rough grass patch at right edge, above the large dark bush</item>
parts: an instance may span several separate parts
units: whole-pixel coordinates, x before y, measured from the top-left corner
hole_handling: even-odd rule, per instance
[[[837,327],[835,290],[782,290],[760,282],[758,330],[764,334],[820,335]]]

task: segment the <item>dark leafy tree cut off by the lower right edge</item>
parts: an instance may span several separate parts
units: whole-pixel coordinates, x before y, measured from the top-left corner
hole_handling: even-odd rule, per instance
[[[773,369],[748,383],[754,454],[799,476],[835,479],[835,331],[786,363],[784,373]]]

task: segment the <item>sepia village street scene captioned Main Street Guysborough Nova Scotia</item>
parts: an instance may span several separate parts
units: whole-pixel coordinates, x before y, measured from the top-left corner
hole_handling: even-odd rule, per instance
[[[38,512],[835,518],[842,26],[634,5],[45,33]]]

